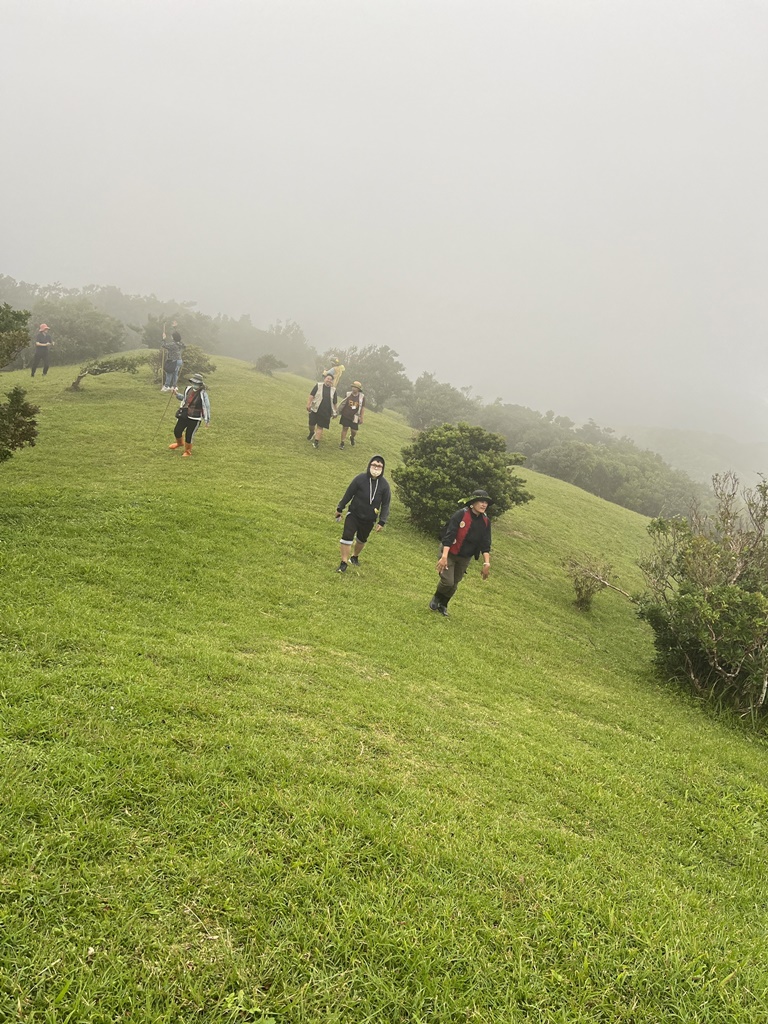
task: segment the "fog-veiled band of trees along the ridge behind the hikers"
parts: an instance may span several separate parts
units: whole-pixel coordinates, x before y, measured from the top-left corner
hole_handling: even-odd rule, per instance
[[[391,408],[417,430],[442,423],[484,427],[501,434],[510,451],[523,456],[534,469],[644,515],[685,514],[692,502],[709,500],[700,482],[609,427],[593,420],[578,426],[551,410],[538,413],[501,398],[484,402],[470,388],[456,388],[429,373],[411,381],[397,352],[386,345],[321,354],[294,321],[278,321],[265,331],[254,327],[248,314],[210,316],[197,310],[195,302],[127,295],[114,285],[40,286],[0,274],[0,302],[32,312],[31,338],[41,323],[49,324],[60,362],[93,359],[126,348],[159,349],[164,326],[176,321],[184,342],[204,352],[254,365],[271,355],[304,377],[314,378],[338,359],[346,368],[342,389],[347,381],[362,381],[371,409]],[[7,369],[27,366],[30,357],[31,348]]]

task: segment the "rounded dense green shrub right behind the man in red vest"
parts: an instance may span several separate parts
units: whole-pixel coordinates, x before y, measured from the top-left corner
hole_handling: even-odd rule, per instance
[[[497,518],[532,496],[511,464],[519,456],[507,452],[499,434],[467,423],[442,424],[419,434],[402,450],[402,465],[392,473],[400,501],[413,523],[438,536],[458,506],[480,487],[494,499],[488,516]]]

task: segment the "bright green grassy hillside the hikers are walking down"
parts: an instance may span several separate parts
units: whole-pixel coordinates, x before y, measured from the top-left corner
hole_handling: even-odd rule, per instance
[[[184,460],[146,377],[3,378],[0,1019],[763,1024],[766,746],[559,568],[636,585],[641,517],[523,472],[443,620],[396,501],[334,572],[408,428],[315,452],[306,382],[216,361]]]

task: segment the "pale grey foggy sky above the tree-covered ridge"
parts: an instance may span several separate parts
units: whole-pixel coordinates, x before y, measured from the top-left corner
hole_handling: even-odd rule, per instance
[[[768,439],[768,0],[4,0],[0,272]]]

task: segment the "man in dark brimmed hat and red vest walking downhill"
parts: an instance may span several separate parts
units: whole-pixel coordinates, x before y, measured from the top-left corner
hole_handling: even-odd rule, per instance
[[[485,515],[493,499],[485,490],[475,490],[455,512],[442,530],[442,548],[437,560],[440,582],[429,602],[432,611],[447,616],[447,605],[464,579],[473,558],[482,555],[482,579],[490,572],[490,520]]]

